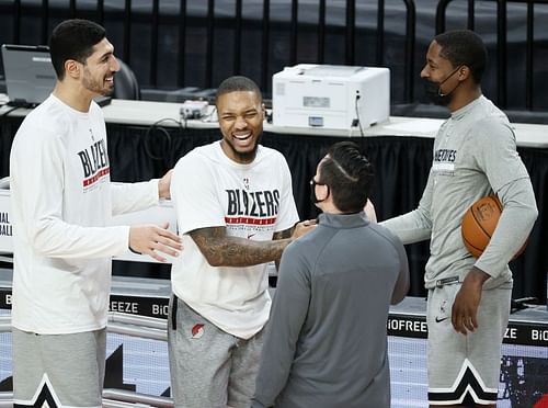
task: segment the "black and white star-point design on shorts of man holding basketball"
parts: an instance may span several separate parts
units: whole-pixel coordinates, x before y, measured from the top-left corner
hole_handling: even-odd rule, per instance
[[[478,371],[466,359],[457,378],[449,388],[429,388],[431,405],[457,405],[465,401],[476,404],[496,404],[496,388],[488,388]]]

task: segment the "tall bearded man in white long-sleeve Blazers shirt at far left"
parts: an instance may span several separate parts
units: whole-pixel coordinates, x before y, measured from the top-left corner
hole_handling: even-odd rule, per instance
[[[114,214],[169,197],[171,174],[113,185],[103,114],[119,69],[102,26],[60,23],[57,82],[19,128],[10,156],[13,388],[16,406],[101,407],[111,258],[178,256],[165,226],[110,226]]]

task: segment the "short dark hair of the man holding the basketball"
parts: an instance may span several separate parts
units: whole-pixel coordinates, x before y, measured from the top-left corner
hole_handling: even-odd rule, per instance
[[[481,83],[487,66],[487,48],[478,34],[470,30],[454,30],[436,35],[434,41],[442,47],[442,57],[453,67],[466,65],[473,81]]]

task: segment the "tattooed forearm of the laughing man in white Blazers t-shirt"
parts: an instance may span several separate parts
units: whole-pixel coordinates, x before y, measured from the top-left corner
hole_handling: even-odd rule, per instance
[[[276,235],[279,236],[276,240],[253,241],[228,237],[225,227],[199,228],[190,233],[212,267],[250,267],[278,260],[289,240],[283,239],[286,231]]]

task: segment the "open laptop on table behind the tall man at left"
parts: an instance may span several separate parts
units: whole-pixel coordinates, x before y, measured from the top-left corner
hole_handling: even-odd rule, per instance
[[[47,46],[3,44],[2,61],[8,104],[34,107],[49,97],[57,76]]]

